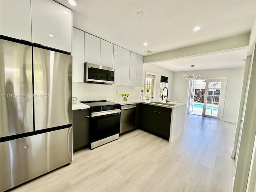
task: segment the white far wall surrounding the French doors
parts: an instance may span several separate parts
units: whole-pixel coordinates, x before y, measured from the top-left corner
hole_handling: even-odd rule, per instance
[[[172,88],[173,101],[180,100],[182,103],[187,103],[189,81],[181,79],[183,78],[183,74],[190,73],[190,71],[174,72]],[[223,116],[220,118],[230,122],[236,122],[240,105],[244,68],[200,70],[194,71],[194,74],[202,74],[202,77],[205,78],[228,77],[224,111]]]

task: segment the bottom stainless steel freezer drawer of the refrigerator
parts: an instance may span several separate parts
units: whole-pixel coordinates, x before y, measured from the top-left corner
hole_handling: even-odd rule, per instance
[[[72,161],[72,128],[0,143],[0,191]]]

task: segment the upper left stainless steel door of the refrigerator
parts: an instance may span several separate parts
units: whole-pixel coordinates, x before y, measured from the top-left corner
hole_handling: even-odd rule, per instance
[[[32,47],[0,39],[0,63],[0,137],[32,132]]]

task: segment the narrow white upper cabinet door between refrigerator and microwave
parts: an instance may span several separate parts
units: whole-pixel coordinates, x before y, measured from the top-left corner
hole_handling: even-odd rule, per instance
[[[77,28],[73,28],[72,53],[72,81],[84,82],[84,32]]]

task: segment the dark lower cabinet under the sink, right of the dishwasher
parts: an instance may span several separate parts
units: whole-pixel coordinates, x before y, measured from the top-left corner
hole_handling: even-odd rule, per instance
[[[171,112],[171,108],[142,104],[140,128],[169,140]]]

